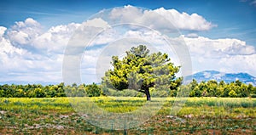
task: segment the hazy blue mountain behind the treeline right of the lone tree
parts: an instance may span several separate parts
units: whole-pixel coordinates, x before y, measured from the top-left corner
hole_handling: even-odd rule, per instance
[[[251,76],[247,73],[224,73],[216,70],[205,70],[193,75],[193,78],[197,82],[216,80],[218,82],[235,82],[236,80],[240,80],[244,83],[252,83],[256,86],[256,77]]]

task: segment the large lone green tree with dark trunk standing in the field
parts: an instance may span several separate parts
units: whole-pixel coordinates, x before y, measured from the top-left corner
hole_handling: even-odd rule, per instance
[[[149,53],[148,48],[139,45],[126,51],[126,56],[119,59],[112,57],[113,70],[105,72],[102,84],[118,90],[132,89],[145,93],[150,100],[149,87],[168,87],[177,89],[182,78],[175,74],[180,66],[174,66],[166,53]]]

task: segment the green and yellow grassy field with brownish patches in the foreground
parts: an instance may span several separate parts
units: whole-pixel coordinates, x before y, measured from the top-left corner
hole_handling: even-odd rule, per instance
[[[172,114],[176,103],[176,98],[153,98],[151,102],[113,97],[0,98],[0,134],[256,133],[256,98],[187,98],[183,108]],[[90,124],[96,117],[101,120],[104,113],[111,114],[111,120],[113,115],[130,115],[137,110],[155,114],[139,127],[127,124],[126,130],[114,130],[120,123],[106,123],[113,127],[108,129]]]

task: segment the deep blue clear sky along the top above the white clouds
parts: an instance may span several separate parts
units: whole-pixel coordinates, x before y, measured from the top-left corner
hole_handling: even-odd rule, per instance
[[[131,4],[142,8],[175,8],[188,14],[201,14],[218,27],[203,34],[212,38],[236,37],[253,44],[256,42],[256,3],[250,0],[195,0],[195,1],[61,1],[18,0],[1,1],[0,25],[9,27],[15,21],[32,17],[46,27],[71,22],[82,22],[103,8],[121,7]],[[219,34],[221,33],[221,34]]]

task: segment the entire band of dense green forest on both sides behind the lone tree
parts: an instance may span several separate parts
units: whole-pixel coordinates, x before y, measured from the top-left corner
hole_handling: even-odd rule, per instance
[[[256,98],[256,87],[252,84],[236,82],[196,82],[193,80],[188,85],[182,85],[175,89],[162,90],[150,88],[152,97],[175,97],[181,88],[187,89],[189,97],[252,97]],[[130,96],[143,97],[143,93],[137,91],[123,90],[118,91],[97,85],[95,83],[85,85],[65,85],[61,82],[58,85],[42,86],[40,84],[27,85],[0,85],[0,97],[6,98],[55,98],[55,97],[98,97],[98,96]]]

